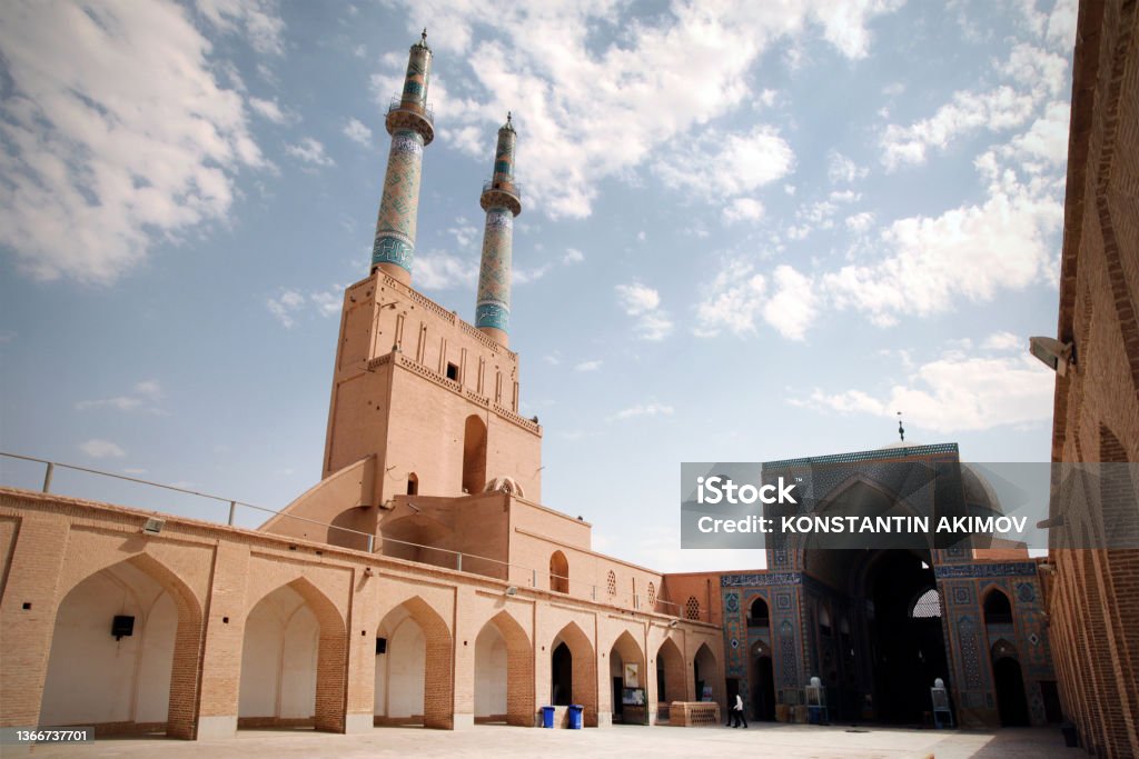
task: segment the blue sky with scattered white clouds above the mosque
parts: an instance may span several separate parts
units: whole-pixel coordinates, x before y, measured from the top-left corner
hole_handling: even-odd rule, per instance
[[[316,484],[424,26],[412,283],[473,321],[511,112],[522,412],[596,550],[759,567],[680,550],[680,462],[876,448],[898,412],[1049,461],[1074,0],[6,0],[0,449],[268,509]]]

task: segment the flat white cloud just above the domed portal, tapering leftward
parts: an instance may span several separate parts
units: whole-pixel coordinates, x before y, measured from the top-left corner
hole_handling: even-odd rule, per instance
[[[904,385],[875,397],[862,390],[827,394],[816,389],[805,405],[843,414],[893,418],[939,434],[986,430],[1051,419],[1055,376],[1027,355],[976,357],[951,352],[923,364]]]

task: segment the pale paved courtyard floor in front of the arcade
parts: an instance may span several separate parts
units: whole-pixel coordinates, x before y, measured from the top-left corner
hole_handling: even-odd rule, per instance
[[[9,756],[5,746],[5,756]],[[17,752],[13,752],[17,753]],[[843,759],[936,757],[937,759],[1046,759],[1087,756],[1065,749],[1059,729],[912,731],[891,728],[752,725],[724,727],[614,726],[584,731],[480,726],[466,731],[378,728],[361,735],[311,731],[241,731],[236,739],[182,742],[162,739],[107,739],[81,745],[35,746],[34,757],[154,757],[163,759],[261,759],[262,757],[658,757],[764,756]]]

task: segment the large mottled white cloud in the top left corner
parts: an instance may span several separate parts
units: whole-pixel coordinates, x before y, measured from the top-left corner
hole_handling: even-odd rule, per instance
[[[226,218],[233,175],[265,165],[172,2],[0,2],[0,245],[35,279],[110,283]]]

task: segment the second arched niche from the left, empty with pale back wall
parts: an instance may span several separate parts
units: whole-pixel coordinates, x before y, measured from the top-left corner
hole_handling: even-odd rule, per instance
[[[241,644],[237,726],[344,728],[344,621],[304,578],[249,610]]]

